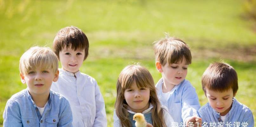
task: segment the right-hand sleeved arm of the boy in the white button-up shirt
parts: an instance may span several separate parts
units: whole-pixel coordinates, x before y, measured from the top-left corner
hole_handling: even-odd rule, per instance
[[[95,107],[96,116],[93,127],[107,127],[107,116],[104,99],[102,97],[101,91],[95,82]]]

